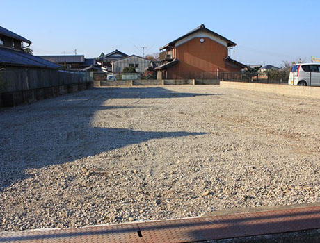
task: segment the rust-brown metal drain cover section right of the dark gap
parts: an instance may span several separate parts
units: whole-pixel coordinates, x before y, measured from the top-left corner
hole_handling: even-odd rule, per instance
[[[320,207],[139,224],[145,242],[199,242],[320,228]]]

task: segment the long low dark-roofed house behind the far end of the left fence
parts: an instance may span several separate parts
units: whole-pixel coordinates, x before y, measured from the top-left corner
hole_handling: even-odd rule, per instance
[[[95,58],[85,58],[84,55],[47,55],[38,56],[50,62],[54,62],[68,70],[80,70],[90,65],[96,65]]]

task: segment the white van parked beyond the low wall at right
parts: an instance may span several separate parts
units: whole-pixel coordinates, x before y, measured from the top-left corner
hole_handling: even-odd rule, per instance
[[[292,66],[288,84],[320,86],[320,63],[301,63]]]

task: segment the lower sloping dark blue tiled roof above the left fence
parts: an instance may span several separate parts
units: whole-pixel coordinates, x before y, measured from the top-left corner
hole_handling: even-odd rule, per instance
[[[23,51],[0,47],[0,65],[62,69],[61,66]]]

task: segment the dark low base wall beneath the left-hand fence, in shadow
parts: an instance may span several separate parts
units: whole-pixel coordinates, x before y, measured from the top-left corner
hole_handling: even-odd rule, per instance
[[[22,90],[17,92],[7,92],[0,94],[0,107],[19,106],[23,103],[33,103],[42,99],[58,97],[59,95],[86,90],[93,87],[92,82],[79,83],[73,85],[58,85],[53,87],[43,87],[33,90]]]

